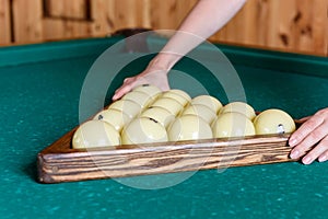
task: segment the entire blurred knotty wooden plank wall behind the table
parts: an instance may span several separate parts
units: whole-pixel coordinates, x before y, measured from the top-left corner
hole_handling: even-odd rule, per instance
[[[197,0],[0,0],[0,44],[178,26]],[[328,56],[328,0],[248,0],[213,41]]]

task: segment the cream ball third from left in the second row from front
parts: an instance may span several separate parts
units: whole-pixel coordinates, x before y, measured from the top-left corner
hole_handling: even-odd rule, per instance
[[[216,118],[216,114],[206,105],[201,104],[191,104],[187,106],[181,115],[197,115],[201,117],[209,125]]]

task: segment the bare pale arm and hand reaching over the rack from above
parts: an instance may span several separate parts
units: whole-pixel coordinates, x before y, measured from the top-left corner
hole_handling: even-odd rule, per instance
[[[115,92],[113,100],[120,99],[134,87],[144,83],[156,85],[163,91],[168,90],[167,73],[172,67],[184,55],[224,26],[245,2],[246,0],[200,0],[180,24],[178,34],[168,41],[144,71],[127,78]]]

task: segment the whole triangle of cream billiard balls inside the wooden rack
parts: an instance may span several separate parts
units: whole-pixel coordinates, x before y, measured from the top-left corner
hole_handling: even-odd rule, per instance
[[[294,120],[281,110],[256,115],[247,103],[232,102],[223,106],[211,95],[191,99],[181,90],[162,92],[144,84],[82,124],[74,132],[72,147],[115,147],[294,130]]]

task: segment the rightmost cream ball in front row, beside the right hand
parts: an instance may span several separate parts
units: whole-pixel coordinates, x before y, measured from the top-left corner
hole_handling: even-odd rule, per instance
[[[293,118],[281,110],[267,110],[254,120],[257,135],[293,132],[296,129]]]

